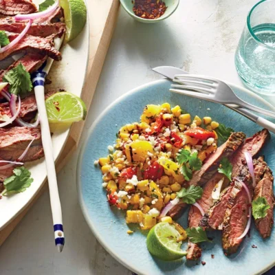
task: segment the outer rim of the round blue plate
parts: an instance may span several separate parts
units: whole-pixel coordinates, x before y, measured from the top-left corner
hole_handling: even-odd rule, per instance
[[[109,111],[109,109],[113,108],[115,106],[115,104],[118,104],[118,102],[122,101],[124,98],[130,96],[131,94],[134,94],[135,92],[139,91],[140,89],[145,89],[146,87],[157,85],[159,83],[164,83],[166,81],[170,81],[170,80],[168,80],[168,78],[162,78],[162,79],[154,80],[154,81],[151,81],[149,83],[145,83],[143,85],[135,87],[135,88],[133,88],[129,91],[126,91],[125,94],[122,94],[122,96],[120,96],[115,101],[113,101],[111,104],[109,104],[104,109],[104,111],[102,113],[100,113],[100,115],[98,115],[98,118],[96,118],[96,120],[94,120],[93,124],[91,124],[91,126],[89,128],[89,131],[87,132],[87,137],[85,137],[85,140],[84,140],[83,144],[81,145],[80,153],[78,155],[78,162],[77,162],[77,166],[76,166],[76,190],[77,190],[77,193],[78,193],[77,194],[78,203],[79,203],[80,208],[83,212],[83,216],[85,218],[85,221],[87,222],[87,225],[91,229],[92,234],[94,234],[94,236],[99,241],[100,245],[102,245],[104,250],[106,250],[109,254],[111,254],[111,256],[116,261],[121,263],[124,267],[128,268],[131,272],[135,272],[136,274],[140,274],[140,275],[147,275],[147,274],[140,273],[138,270],[135,269],[135,267],[133,267],[133,266],[129,265],[128,263],[122,261],[120,259],[120,256],[118,256],[113,250],[109,249],[108,244],[104,241],[104,239],[102,237],[100,237],[100,234],[98,234],[98,230],[96,230],[94,228],[94,224],[91,221],[91,219],[89,218],[88,210],[87,210],[87,208],[85,206],[85,203],[84,203],[84,200],[82,198],[82,191],[81,191],[81,188],[80,188],[80,178],[81,178],[80,177],[80,170],[81,170],[82,163],[83,163],[83,154],[85,153],[85,148],[87,146],[87,143],[89,142],[89,137],[90,137],[91,133],[94,131],[94,129],[96,128],[96,126],[98,125],[98,123],[100,122],[100,120]],[[259,96],[258,94],[255,94],[254,92],[250,91],[249,89],[246,89],[245,87],[235,85],[234,83],[230,83],[228,81],[226,81],[225,83],[227,83],[230,87],[239,89],[239,90],[245,92],[246,94],[249,94],[250,96],[256,98],[257,100],[259,100],[259,101],[263,102],[264,104],[266,104],[267,106],[269,106],[270,109],[272,109],[272,111],[275,111],[275,107],[272,104],[270,104],[270,102],[267,102],[267,100],[265,100],[264,98],[261,98],[261,96]],[[263,274],[267,270],[270,270],[272,267],[274,267],[274,265],[275,265],[275,259],[274,259],[274,261],[272,262],[271,265],[268,265],[267,267],[264,267],[263,270],[260,270],[259,272],[254,273],[254,275]]]

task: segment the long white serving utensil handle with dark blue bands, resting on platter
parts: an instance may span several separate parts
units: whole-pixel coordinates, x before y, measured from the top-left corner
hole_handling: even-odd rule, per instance
[[[59,49],[61,47],[63,39],[55,39],[55,47]],[[52,208],[52,219],[54,222],[54,238],[56,248],[59,252],[63,250],[65,243],[63,232],[63,221],[61,211],[61,201],[58,194],[58,186],[56,179],[56,168],[54,164],[54,151],[52,148],[52,137],[50,133],[50,126],[47,120],[47,111],[45,107],[45,78],[52,66],[52,58],[47,58],[42,67],[32,74],[32,83],[34,86],[34,94],[36,98],[37,109],[39,111],[39,120],[41,124],[41,137],[43,150],[45,154],[45,162],[47,167],[47,180],[50,189],[50,203]]]

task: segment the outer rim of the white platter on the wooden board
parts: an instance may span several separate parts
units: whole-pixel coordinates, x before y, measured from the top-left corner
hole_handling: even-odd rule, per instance
[[[89,65],[89,52],[90,52],[90,26],[89,26],[89,12],[88,12],[88,5],[87,5],[87,0],[84,0],[85,1],[85,4],[87,6],[87,21],[86,21],[86,25],[85,25],[85,28],[87,28],[87,40],[88,40],[88,43],[87,43],[87,56],[86,56],[86,60],[85,60],[85,77],[83,79],[83,83],[81,85],[81,89],[80,89],[80,97],[83,95],[83,87],[85,85],[85,82],[86,82],[86,78],[87,78],[87,70],[88,70],[88,65]],[[63,47],[65,47],[65,45],[63,45]],[[61,156],[61,154],[63,153],[63,149],[65,147],[65,145],[67,144],[67,140],[69,138],[69,133],[71,131],[71,128],[72,126],[69,127],[69,129],[67,129],[66,131],[67,132],[67,136],[65,138],[65,142],[63,142],[62,146],[61,146],[61,150],[59,151],[58,155],[56,155],[55,159],[54,159],[54,163],[56,164],[56,162],[58,162],[58,159],[59,157]],[[45,162],[45,158],[43,159],[43,162]],[[39,188],[37,188],[36,192],[33,193],[32,197],[30,197],[30,199],[28,199],[28,201],[26,201],[25,203],[22,203],[22,207],[20,208],[20,210],[18,210],[17,212],[14,212],[14,214],[10,215],[8,219],[6,219],[5,223],[2,223],[0,225],[0,231],[1,230],[4,230],[6,227],[8,227],[8,225],[10,225],[10,223],[12,223],[12,221],[14,221],[14,219],[16,219],[19,214],[21,214],[26,208],[28,208],[30,206],[30,204],[34,201],[36,195],[41,191],[41,189],[43,188],[44,184],[45,184],[45,181],[47,181],[47,173],[46,173],[46,176],[41,179],[41,184],[39,186]]]

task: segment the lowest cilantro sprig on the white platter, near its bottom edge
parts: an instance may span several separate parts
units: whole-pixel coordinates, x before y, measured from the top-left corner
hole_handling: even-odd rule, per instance
[[[13,192],[24,192],[26,188],[30,187],[32,181],[34,181],[30,177],[30,171],[24,166],[14,168],[13,173],[14,175],[4,180],[5,190],[2,195],[10,195]]]

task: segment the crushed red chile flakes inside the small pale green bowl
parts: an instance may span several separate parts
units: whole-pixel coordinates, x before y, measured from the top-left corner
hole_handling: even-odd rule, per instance
[[[137,17],[144,19],[157,19],[167,9],[165,2],[162,0],[135,0],[134,4],[133,12]]]

